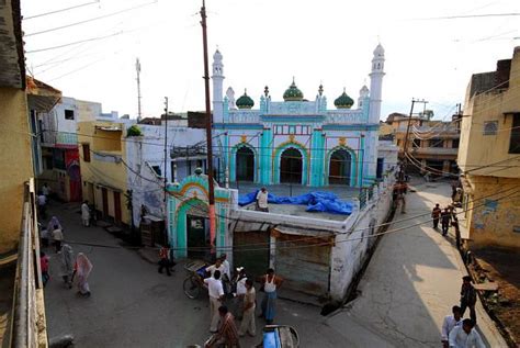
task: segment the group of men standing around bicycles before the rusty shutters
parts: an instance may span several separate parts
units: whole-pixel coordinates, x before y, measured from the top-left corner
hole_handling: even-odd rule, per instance
[[[246,334],[256,336],[257,291],[253,280],[244,268],[238,268],[231,280],[229,262],[225,254],[216,260],[215,265],[206,268],[206,273],[208,277],[203,281],[210,293],[210,332],[214,334],[206,347],[239,347],[239,337]],[[263,317],[268,325],[273,323],[278,290],[282,283],[283,279],[276,276],[272,268],[261,277],[260,291],[264,294],[259,317]],[[239,327],[237,327],[235,316],[225,305],[226,298],[230,294],[233,294],[233,306],[236,308],[237,318],[241,319]]]

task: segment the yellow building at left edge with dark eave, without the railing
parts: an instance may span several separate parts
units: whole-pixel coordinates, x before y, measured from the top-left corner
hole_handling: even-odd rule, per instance
[[[15,11],[11,1],[0,4],[0,255],[18,246],[24,183],[33,177],[23,42]]]

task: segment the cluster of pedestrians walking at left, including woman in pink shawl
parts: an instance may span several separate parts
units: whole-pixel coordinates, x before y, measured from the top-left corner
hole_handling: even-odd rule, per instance
[[[54,246],[55,254],[59,257],[60,277],[67,289],[72,289],[75,278],[77,279],[78,294],[81,296],[90,296],[89,276],[92,271],[92,262],[87,255],[78,252],[75,257],[72,247],[65,243],[64,228],[58,217],[53,216],[47,228],[42,231],[42,248]],[[49,257],[45,251],[39,251],[39,266],[42,270],[42,281],[45,287],[50,280]]]

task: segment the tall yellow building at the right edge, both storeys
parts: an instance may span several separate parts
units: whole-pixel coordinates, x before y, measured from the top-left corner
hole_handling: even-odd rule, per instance
[[[472,76],[457,162],[471,245],[520,247],[520,47]]]

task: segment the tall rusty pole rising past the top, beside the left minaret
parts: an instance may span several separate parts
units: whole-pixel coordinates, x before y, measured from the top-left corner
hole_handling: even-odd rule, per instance
[[[213,144],[212,144],[212,110],[210,101],[210,63],[207,59],[207,29],[206,29],[206,2],[202,0],[201,8],[202,44],[204,52],[204,90],[206,98],[206,146],[207,146],[207,187],[208,187],[208,217],[211,252],[215,252],[215,188],[213,184]]]

